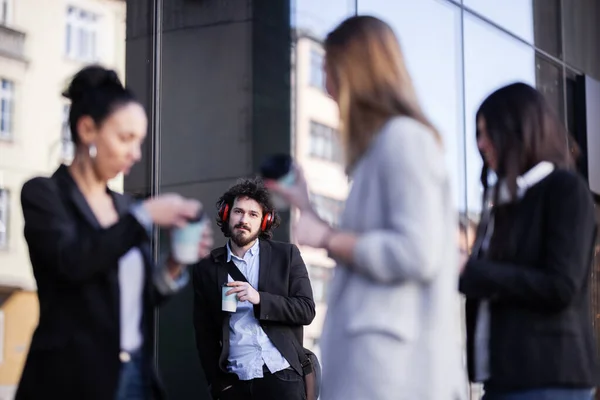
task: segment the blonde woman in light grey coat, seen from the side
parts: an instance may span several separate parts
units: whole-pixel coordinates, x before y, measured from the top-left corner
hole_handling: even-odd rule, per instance
[[[298,168],[269,187],[300,211],[302,245],[337,261],[322,337],[322,399],[464,398],[457,216],[440,135],[424,116],[392,29],[358,16],[325,41],[353,184],[335,229]]]

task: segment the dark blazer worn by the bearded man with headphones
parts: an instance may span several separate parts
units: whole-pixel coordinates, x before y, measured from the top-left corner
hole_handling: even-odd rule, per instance
[[[302,343],[303,325],[315,317],[312,287],[298,248],[289,243],[260,240],[258,288],[260,304],[254,315],[273,345],[300,374],[302,367],[292,340]],[[194,327],[196,346],[213,396],[237,379],[227,372],[230,313],[221,311],[227,283],[227,247],[212,251],[194,265]]]

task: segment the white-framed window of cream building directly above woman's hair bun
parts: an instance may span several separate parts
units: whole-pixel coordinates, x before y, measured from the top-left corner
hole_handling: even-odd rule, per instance
[[[96,61],[98,16],[89,11],[67,8],[66,55],[78,61]]]

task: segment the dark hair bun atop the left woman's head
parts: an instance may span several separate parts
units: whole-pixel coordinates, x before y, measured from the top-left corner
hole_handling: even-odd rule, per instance
[[[97,90],[125,90],[117,73],[99,65],[91,65],[79,71],[63,96],[71,101],[81,99],[86,93]]]

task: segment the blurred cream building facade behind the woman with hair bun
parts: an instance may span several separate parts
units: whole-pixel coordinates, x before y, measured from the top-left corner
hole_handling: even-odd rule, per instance
[[[60,93],[96,62],[124,73],[124,1],[0,1],[0,399],[12,398],[38,318],[21,187],[70,161]]]

